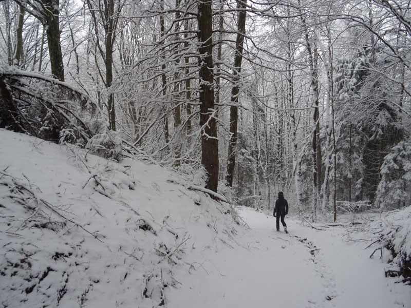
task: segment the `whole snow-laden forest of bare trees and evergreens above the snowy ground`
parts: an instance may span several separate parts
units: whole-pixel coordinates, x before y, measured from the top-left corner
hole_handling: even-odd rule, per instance
[[[1,0],[0,127],[309,221],[411,202],[411,3]],[[6,145],[2,145],[6,146]]]

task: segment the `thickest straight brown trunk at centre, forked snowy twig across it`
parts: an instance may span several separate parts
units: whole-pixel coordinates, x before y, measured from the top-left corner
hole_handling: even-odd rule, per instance
[[[198,2],[198,41],[200,79],[200,126],[201,163],[207,171],[206,188],[217,192],[218,187],[218,139],[214,118],[214,74],[213,74],[213,27],[212,1]]]

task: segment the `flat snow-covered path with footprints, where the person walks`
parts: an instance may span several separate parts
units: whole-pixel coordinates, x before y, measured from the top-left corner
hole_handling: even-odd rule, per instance
[[[238,237],[246,249],[203,251],[202,268],[177,277],[182,285],[167,293],[167,307],[411,307],[409,286],[385,278],[384,263],[369,259],[364,242],[343,241],[343,229],[319,232],[288,220],[286,235],[272,217],[240,214],[251,228]]]

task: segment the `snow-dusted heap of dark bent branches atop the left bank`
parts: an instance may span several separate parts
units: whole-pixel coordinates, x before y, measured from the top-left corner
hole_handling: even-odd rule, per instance
[[[100,108],[70,84],[0,66],[0,127],[56,143],[86,147],[119,160],[121,138],[100,120]]]

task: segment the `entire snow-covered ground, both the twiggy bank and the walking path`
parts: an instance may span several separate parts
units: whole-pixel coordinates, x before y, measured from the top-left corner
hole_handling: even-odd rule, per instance
[[[0,129],[0,307],[411,307],[372,237],[248,228],[201,181]]]

